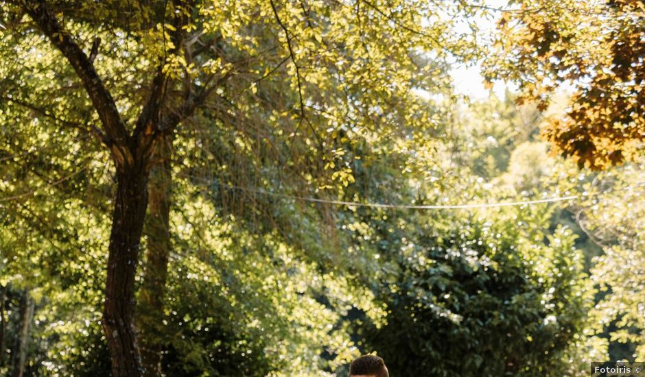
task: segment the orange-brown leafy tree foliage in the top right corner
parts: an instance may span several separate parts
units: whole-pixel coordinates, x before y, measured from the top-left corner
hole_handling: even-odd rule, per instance
[[[580,167],[631,160],[645,140],[645,34],[641,0],[513,1],[502,10],[489,80],[513,80],[546,108],[573,91],[563,117],[543,127],[554,149]]]

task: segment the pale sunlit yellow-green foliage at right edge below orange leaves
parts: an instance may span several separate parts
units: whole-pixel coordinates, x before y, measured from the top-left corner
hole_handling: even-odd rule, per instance
[[[600,287],[591,311],[598,339],[609,343],[611,359],[640,360],[645,356],[642,302],[642,236],[645,206],[642,158],[618,169],[602,171],[585,182],[580,191],[585,200],[575,208],[576,219],[589,237],[602,248],[594,257],[591,278]]]

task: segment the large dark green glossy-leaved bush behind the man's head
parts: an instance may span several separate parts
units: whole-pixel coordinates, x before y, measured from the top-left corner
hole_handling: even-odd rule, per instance
[[[362,326],[364,349],[376,350],[392,373],[560,376],[570,369],[593,292],[574,235],[560,228],[542,244],[548,232],[532,230],[541,228],[535,215],[480,216],[416,223],[392,255],[399,271],[375,293],[386,323]]]

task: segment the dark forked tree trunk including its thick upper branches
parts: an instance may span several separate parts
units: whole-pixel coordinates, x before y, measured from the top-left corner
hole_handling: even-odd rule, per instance
[[[112,217],[110,245],[108,255],[108,273],[106,282],[106,299],[103,311],[103,328],[107,338],[113,376],[139,377],[143,374],[141,356],[137,346],[137,334],[134,328],[134,276],[139,261],[139,243],[145,219],[145,209],[148,205],[148,157],[150,148],[157,138],[172,134],[174,127],[189,117],[195,108],[215,88],[204,88],[200,93],[189,91],[184,103],[175,111],[161,117],[161,108],[165,101],[165,88],[169,76],[159,65],[159,71],[152,80],[150,99],[143,106],[137,119],[132,135],[128,132],[126,123],[109,90],[104,86],[93,64],[93,57],[87,56],[75,42],[72,34],[62,27],[54,12],[47,8],[47,1],[22,1],[23,9],[38,25],[40,30],[49,38],[65,56],[80,78],[86,93],[89,95],[93,108],[102,123],[99,136],[110,149],[115,166],[117,167],[117,193]],[[190,17],[193,1],[174,0],[175,12],[172,12],[172,45],[169,53],[180,51],[184,27]],[[164,7],[165,8],[165,7]],[[96,46],[97,47],[97,46]],[[93,47],[95,50],[95,47]],[[161,210],[161,208],[160,208]],[[167,221],[166,221],[167,222]],[[154,256],[156,258],[156,256]],[[164,266],[165,260],[154,263]],[[165,275],[159,276],[165,285]],[[162,283],[152,282],[159,286]],[[152,300],[161,300],[163,311],[163,296]],[[159,303],[153,302],[156,307]]]

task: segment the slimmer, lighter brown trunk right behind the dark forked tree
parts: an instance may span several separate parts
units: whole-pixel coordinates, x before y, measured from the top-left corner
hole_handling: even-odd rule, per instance
[[[137,328],[141,342],[144,376],[161,375],[161,348],[164,342],[163,308],[168,256],[171,250],[169,215],[172,195],[172,138],[161,136],[155,141],[148,184],[148,217],[145,228],[147,250],[143,284],[137,308]]]

